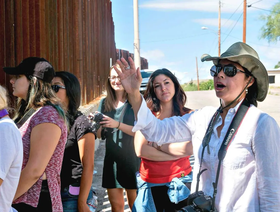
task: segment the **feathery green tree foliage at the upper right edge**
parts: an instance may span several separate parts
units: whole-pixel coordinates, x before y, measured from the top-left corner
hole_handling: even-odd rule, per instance
[[[261,20],[265,21],[265,25],[261,28],[261,38],[276,43],[280,40],[280,2],[274,4],[271,11],[269,15],[260,17]]]

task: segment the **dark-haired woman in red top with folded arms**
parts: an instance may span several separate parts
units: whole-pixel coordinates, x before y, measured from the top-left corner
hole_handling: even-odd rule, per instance
[[[192,112],[184,107],[187,98],[178,79],[165,68],[151,74],[144,99],[153,115],[160,120]],[[133,211],[146,211],[149,206],[143,202],[143,199],[149,197],[153,199],[155,205],[154,208],[150,206],[151,211],[172,212],[185,206],[192,182],[192,167],[189,160],[190,155],[193,154],[192,142],[157,145],[148,142],[142,133],[137,131],[134,146],[137,156],[141,157],[140,170],[137,174],[137,185],[141,186],[138,186]],[[174,178],[182,182],[181,187],[178,187],[178,192],[182,192],[179,201],[173,200],[172,197],[171,201],[168,195]]]

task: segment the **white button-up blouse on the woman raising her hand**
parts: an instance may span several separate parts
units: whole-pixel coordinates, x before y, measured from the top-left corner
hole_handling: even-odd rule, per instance
[[[213,182],[218,168],[218,151],[236,107],[230,109],[218,137],[217,127],[222,124],[219,117],[214,125],[209,148],[205,149],[199,190],[213,197]],[[216,112],[215,107],[204,107],[184,116],[157,119],[147,108],[146,102],[137,114],[133,132],[140,130],[148,141],[158,144],[192,140],[195,163],[191,193],[195,192],[196,176],[202,152],[202,139],[208,124]],[[201,169],[201,170],[202,170]],[[280,211],[280,129],[276,121],[251,105],[227,154],[222,162],[217,187],[215,207],[225,211]]]

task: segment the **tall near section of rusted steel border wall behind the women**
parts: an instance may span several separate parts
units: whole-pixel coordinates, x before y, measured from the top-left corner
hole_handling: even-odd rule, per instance
[[[0,84],[12,87],[3,66],[44,57],[81,83],[82,105],[100,96],[116,61],[110,0],[0,0]]]

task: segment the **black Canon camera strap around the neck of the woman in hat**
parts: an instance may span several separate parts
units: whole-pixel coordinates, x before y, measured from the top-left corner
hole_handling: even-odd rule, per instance
[[[219,163],[218,163],[218,169],[217,169],[217,174],[216,174],[216,181],[215,181],[215,183],[213,183],[214,193],[213,193],[213,201],[212,201],[211,211],[214,211],[214,204],[215,204],[215,198],[216,198],[216,194],[217,194],[217,186],[218,186],[218,179],[219,179],[219,175],[220,175],[221,162],[225,158],[226,153],[227,153],[227,149],[228,149],[230,143],[232,142],[234,136],[236,135],[237,130],[239,129],[246,113],[249,110],[249,107],[250,107],[250,104],[248,103],[248,101],[246,99],[244,99],[243,102],[241,103],[241,105],[239,106],[239,108],[237,109],[237,112],[235,113],[235,116],[232,119],[232,122],[230,123],[230,126],[229,126],[229,128],[227,130],[227,133],[225,135],[225,138],[224,138],[224,140],[221,144],[221,147],[219,149],[219,152],[218,152]],[[199,173],[197,174],[196,191],[198,191],[200,175],[202,174],[202,172],[207,170],[207,169],[204,169],[204,170],[200,171],[201,170],[201,165],[202,165],[202,158],[203,158],[203,155],[204,155],[204,150],[207,146],[208,153],[210,154],[209,141],[210,141],[210,137],[211,137],[211,134],[213,132],[213,129],[214,129],[214,125],[216,124],[219,116],[220,116],[220,108],[216,111],[216,113],[212,117],[212,119],[210,121],[210,124],[209,124],[209,126],[206,130],[205,136],[202,140],[203,149],[202,149],[202,153],[201,153]]]

